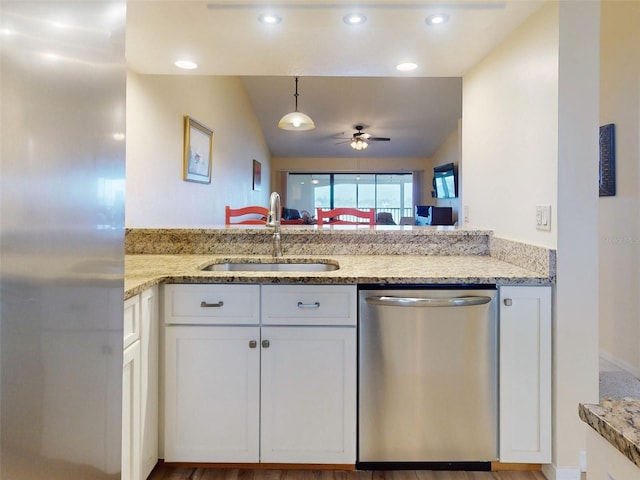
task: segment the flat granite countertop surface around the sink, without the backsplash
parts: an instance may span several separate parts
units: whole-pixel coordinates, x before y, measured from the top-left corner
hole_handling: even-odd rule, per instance
[[[285,255],[337,263],[327,272],[232,272],[201,270],[232,259],[271,261],[266,255],[126,255],[125,298],[159,283],[312,283],[312,284],[539,284],[548,276],[490,256]]]

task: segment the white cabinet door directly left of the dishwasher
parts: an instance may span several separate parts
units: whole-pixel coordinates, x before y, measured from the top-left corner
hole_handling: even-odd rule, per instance
[[[261,461],[355,463],[356,329],[263,327],[261,350]]]

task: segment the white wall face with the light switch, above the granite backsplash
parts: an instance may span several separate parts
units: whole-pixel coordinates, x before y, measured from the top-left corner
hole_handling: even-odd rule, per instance
[[[467,226],[556,246],[557,99],[558,20],[549,6],[464,76]],[[542,204],[551,205],[551,232],[536,230],[535,207]]]

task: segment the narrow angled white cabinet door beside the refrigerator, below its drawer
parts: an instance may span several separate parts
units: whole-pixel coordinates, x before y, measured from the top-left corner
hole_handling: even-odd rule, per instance
[[[121,479],[140,479],[140,341],[123,353]]]

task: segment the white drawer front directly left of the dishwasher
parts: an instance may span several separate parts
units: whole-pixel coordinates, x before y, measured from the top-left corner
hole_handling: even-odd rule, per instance
[[[263,285],[263,325],[356,325],[355,285]]]

